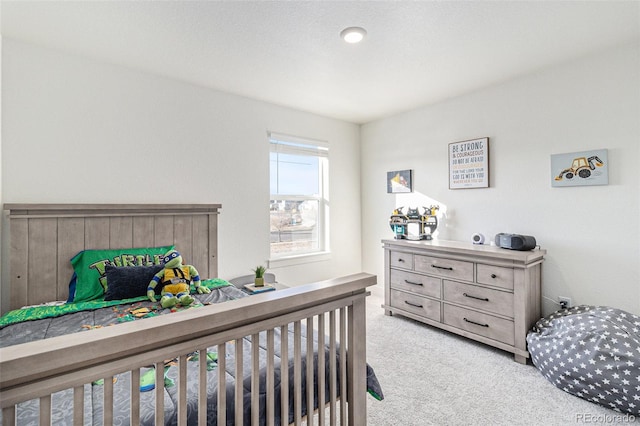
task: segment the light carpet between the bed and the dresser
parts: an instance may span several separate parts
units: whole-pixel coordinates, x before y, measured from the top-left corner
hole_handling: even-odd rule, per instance
[[[639,422],[570,395],[513,355],[402,316],[367,298],[367,362],[385,399],[368,425],[567,425]]]

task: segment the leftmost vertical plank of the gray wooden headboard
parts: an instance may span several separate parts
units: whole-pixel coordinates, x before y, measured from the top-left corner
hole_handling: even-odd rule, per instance
[[[29,274],[27,265],[29,254],[28,219],[11,220],[11,299],[10,309],[18,309],[27,304]]]

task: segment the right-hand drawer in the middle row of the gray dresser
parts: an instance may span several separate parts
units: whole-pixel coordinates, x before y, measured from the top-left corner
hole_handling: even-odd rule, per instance
[[[513,318],[513,293],[444,280],[444,300]]]

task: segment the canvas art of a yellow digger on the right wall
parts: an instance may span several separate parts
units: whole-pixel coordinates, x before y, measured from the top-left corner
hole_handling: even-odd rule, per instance
[[[606,149],[570,152],[551,156],[551,186],[607,185]]]

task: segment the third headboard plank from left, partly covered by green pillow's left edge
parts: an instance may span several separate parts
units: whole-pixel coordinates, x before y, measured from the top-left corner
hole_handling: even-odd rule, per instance
[[[56,300],[66,300],[69,297],[69,280],[73,275],[71,258],[84,250],[84,219],[58,219],[58,278]]]

